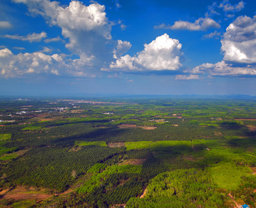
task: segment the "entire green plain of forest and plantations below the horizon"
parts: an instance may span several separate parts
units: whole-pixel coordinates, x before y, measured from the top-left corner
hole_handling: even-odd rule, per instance
[[[256,207],[256,98],[0,98],[0,207]]]

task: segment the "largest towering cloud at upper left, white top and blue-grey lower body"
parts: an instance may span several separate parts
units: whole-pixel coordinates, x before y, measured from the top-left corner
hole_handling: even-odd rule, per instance
[[[105,6],[96,2],[86,6],[81,1],[71,1],[69,6],[60,6],[57,1],[49,0],[14,1],[25,3],[32,15],[42,15],[47,23],[59,26],[63,37],[69,40],[66,48],[79,56],[93,56],[95,68],[113,58],[110,46],[113,23],[106,17]],[[59,38],[45,42],[57,40]]]

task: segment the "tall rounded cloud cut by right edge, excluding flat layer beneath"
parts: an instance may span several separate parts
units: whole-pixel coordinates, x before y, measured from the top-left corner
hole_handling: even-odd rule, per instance
[[[223,60],[244,64],[256,64],[256,16],[238,17],[221,40]]]

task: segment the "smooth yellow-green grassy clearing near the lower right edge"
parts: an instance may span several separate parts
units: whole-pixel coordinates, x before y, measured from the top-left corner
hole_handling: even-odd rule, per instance
[[[247,166],[237,166],[231,162],[209,168],[214,182],[221,189],[234,190],[241,184],[241,177],[252,171]]]

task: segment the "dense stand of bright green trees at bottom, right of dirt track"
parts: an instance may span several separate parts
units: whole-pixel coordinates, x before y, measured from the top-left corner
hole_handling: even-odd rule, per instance
[[[145,198],[131,198],[127,207],[222,207],[211,175],[197,169],[161,173],[151,180]]]

